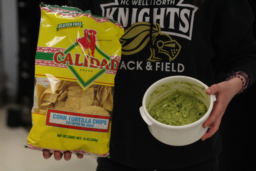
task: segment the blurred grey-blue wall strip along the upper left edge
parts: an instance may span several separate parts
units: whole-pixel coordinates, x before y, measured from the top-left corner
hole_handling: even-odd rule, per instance
[[[18,6],[16,0],[0,1],[0,105],[18,93]]]

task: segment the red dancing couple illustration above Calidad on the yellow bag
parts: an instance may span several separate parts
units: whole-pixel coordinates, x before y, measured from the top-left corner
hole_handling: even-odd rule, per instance
[[[97,32],[95,30],[92,30],[92,29],[88,30],[85,28],[84,36],[77,38],[76,41],[80,45],[80,47],[83,48],[84,54],[85,54],[85,50],[87,49],[88,55],[92,55],[94,57],[96,34],[97,34]],[[91,54],[90,54],[89,48],[91,50]]]

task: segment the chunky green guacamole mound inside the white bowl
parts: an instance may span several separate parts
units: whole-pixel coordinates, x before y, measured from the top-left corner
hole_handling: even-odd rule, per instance
[[[193,95],[176,90],[171,95],[158,99],[148,113],[166,125],[187,125],[203,117],[207,107]]]

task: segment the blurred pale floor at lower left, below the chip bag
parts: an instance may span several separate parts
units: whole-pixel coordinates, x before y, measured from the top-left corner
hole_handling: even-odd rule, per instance
[[[23,127],[10,128],[6,121],[7,106],[0,107],[0,171],[96,170],[93,156],[78,159],[74,155],[69,161],[57,161],[52,156],[46,160],[41,152],[21,147],[26,144],[28,131]]]

